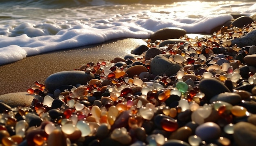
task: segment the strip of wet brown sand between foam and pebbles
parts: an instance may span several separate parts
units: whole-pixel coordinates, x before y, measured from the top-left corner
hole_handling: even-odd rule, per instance
[[[97,63],[99,59],[112,60],[115,57],[124,57],[136,46],[144,43],[141,39],[112,40],[102,44],[30,56],[2,65],[0,95],[26,92],[36,81],[44,83],[53,73],[73,70],[88,62]]]

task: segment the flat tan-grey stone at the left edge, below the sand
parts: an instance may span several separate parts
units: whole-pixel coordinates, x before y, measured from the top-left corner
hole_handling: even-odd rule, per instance
[[[40,95],[29,94],[27,92],[16,92],[0,95],[0,102],[7,104],[8,106],[17,107],[17,106],[31,106],[31,103],[34,99],[43,102],[43,97]]]

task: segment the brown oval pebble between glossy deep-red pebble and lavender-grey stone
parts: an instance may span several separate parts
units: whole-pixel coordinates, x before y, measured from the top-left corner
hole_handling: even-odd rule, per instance
[[[178,139],[178,140],[186,141],[191,135],[192,135],[191,128],[187,126],[183,126],[178,128],[177,131],[173,132],[170,136],[170,139]]]

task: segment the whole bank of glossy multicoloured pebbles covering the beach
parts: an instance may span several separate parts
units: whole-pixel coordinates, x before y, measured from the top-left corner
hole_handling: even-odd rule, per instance
[[[54,73],[44,84],[36,82],[28,89],[37,96],[29,106],[0,102],[0,142],[254,146],[256,46],[231,41],[255,28],[252,22],[242,28],[222,27],[202,38],[183,34],[178,39],[148,39],[147,46],[138,46],[124,58]]]

